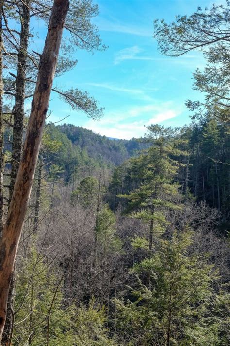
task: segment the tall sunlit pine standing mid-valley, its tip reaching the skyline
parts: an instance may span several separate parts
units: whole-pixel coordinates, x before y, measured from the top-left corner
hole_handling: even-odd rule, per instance
[[[132,218],[153,221],[151,242],[152,227],[155,232],[164,232],[165,210],[182,210],[179,186],[174,182],[180,164],[172,155],[186,155],[186,152],[179,150],[180,141],[175,141],[171,127],[150,125],[147,128],[146,141],[152,146],[129,161],[126,173],[128,179],[134,180],[136,188],[118,197],[129,200],[127,212]]]

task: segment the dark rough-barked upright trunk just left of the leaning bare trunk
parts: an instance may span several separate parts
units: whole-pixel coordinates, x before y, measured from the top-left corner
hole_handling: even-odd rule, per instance
[[[10,175],[10,194],[9,203],[13,194],[14,184],[16,181],[17,171],[21,158],[22,141],[23,141],[23,119],[24,119],[24,101],[26,85],[26,63],[27,48],[30,34],[30,0],[22,1],[21,15],[21,32],[20,47],[18,51],[15,106],[13,109],[14,126],[13,126],[13,144],[12,144],[12,162]]]

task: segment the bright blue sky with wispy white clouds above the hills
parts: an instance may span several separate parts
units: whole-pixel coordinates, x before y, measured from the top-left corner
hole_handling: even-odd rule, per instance
[[[219,2],[219,1],[218,1]],[[143,136],[145,126],[180,127],[190,123],[187,99],[203,97],[193,91],[192,73],[205,66],[200,52],[181,57],[161,55],[153,38],[153,21],[171,22],[178,14],[192,14],[197,6],[210,7],[210,0],[96,0],[99,15],[93,19],[108,46],[93,55],[77,50],[77,66],[57,78],[63,90],[79,88],[95,97],[104,114],[92,120],[51,95],[49,121],[66,122],[113,138]],[[39,30],[39,22],[34,29]],[[37,26],[37,27],[36,27]],[[45,33],[45,31],[44,31]],[[40,42],[42,42],[41,37]],[[37,43],[39,44],[39,43]]]

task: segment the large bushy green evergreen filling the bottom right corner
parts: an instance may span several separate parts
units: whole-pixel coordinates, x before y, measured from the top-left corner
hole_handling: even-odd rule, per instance
[[[205,256],[189,254],[192,233],[161,240],[152,257],[134,265],[132,299],[115,299],[116,328],[125,345],[227,345],[227,316],[218,307],[217,274]],[[147,288],[141,278],[150,273]]]

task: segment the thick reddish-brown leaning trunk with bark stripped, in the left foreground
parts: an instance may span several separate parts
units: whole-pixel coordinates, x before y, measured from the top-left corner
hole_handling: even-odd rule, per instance
[[[68,0],[54,0],[45,47],[41,55],[22,159],[0,242],[0,339],[6,319],[10,280],[32,189],[68,6]]]

